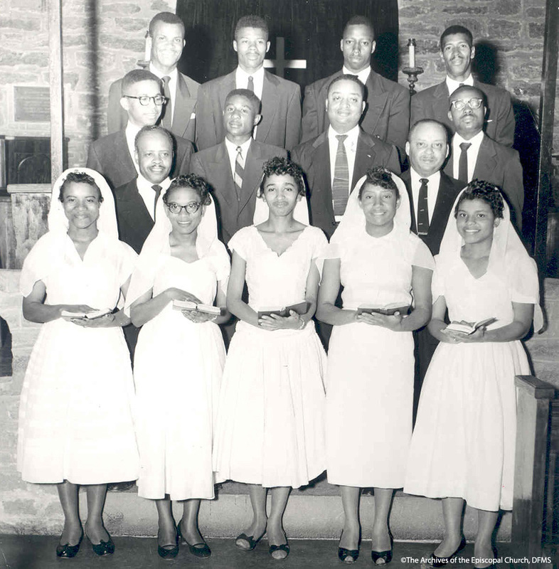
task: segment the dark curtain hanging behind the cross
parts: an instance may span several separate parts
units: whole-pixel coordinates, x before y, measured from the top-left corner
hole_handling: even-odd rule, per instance
[[[177,0],[176,14],[186,26],[179,68],[201,83],[237,65],[233,32],[245,14],[266,18],[271,43],[267,58],[276,58],[279,36],[285,38],[286,59],[307,60],[307,69],[285,71],[285,78],[301,87],[341,68],[344,24],[353,15],[367,16],[376,28],[373,67],[398,79],[398,0]]]

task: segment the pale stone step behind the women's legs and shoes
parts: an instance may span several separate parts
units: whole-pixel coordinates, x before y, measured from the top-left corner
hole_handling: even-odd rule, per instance
[[[310,491],[309,491],[310,490]],[[81,511],[85,510],[85,495]],[[270,497],[268,498],[270,501]],[[270,504],[268,504],[270,507]],[[182,506],[174,504],[175,519],[180,519]],[[367,491],[361,496],[361,525],[363,539],[370,538],[374,514],[374,498]],[[107,528],[115,535],[154,536],[157,516],[151,500],[139,498],[135,492],[110,492],[105,504]],[[208,537],[235,537],[252,519],[250,499],[242,484],[228,483],[218,490],[215,500],[203,500],[199,525]],[[510,541],[511,513],[500,520],[497,541]],[[289,497],[284,516],[284,528],[292,538],[339,538],[344,520],[339,491],[326,481],[312,489],[294,490]],[[396,540],[437,541],[442,538],[442,509],[440,500],[411,496],[397,491],[390,513],[390,528]],[[472,540],[477,531],[477,514],[466,508],[464,535]]]

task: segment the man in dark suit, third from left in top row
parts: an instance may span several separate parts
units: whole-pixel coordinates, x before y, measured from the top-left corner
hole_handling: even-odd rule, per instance
[[[361,128],[373,137],[394,144],[403,155],[410,126],[410,94],[405,87],[383,78],[371,69],[371,55],[375,47],[375,32],[371,21],[363,16],[353,16],[346,23],[340,43],[344,53],[344,67],[305,89],[302,142],[318,136],[328,127],[324,103],[331,80],[342,74],[357,75],[366,86],[366,110],[361,119]]]

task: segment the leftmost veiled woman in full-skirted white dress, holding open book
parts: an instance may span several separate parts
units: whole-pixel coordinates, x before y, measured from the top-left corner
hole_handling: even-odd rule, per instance
[[[103,526],[107,482],[138,477],[134,383],[116,310],[136,253],[118,240],[105,179],[81,168],[53,186],[48,233],[23,262],[23,316],[44,323],[29,359],[19,409],[18,470],[26,482],[58,485],[64,529],[58,557],[74,557],[83,529],[78,490],[87,491],[85,534],[97,555],[115,551]],[[63,313],[107,314],[88,319]]]

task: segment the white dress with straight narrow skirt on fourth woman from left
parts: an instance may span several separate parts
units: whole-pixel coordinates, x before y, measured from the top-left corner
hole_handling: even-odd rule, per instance
[[[412,233],[331,244],[339,258],[344,308],[412,302],[412,265],[432,269]],[[334,326],[326,375],[328,482],[400,488],[412,434],[412,332],[362,322]]]

